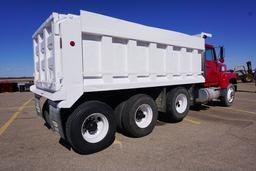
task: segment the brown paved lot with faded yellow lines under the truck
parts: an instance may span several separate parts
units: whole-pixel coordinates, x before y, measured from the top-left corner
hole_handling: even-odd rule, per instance
[[[59,143],[32,93],[0,94],[0,170],[256,170],[256,87],[239,84],[232,107],[191,110],[143,138],[116,134],[104,151],[79,155]]]

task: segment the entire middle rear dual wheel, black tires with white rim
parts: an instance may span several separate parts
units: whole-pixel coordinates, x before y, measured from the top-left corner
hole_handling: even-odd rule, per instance
[[[122,102],[115,110],[117,129],[130,137],[150,134],[157,122],[155,101],[148,95],[137,94]]]

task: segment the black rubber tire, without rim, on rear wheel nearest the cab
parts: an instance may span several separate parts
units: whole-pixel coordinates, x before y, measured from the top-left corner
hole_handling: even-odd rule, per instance
[[[183,113],[178,113],[176,110],[175,100],[179,94],[184,94],[187,97],[187,107]],[[190,107],[190,98],[187,89],[184,87],[176,87],[171,89],[166,95],[166,113],[167,117],[172,122],[180,122],[188,114]]]

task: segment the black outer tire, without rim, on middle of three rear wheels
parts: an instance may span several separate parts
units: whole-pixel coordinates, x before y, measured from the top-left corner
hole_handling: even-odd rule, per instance
[[[137,126],[134,115],[137,108],[142,104],[150,105],[153,111],[153,118],[151,123],[146,128],[140,128]],[[123,129],[126,135],[139,138],[150,134],[157,122],[158,110],[155,101],[148,95],[137,94],[129,98],[124,107],[124,113],[122,117]]]

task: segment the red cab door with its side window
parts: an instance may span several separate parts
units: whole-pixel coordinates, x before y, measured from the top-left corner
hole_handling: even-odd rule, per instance
[[[218,70],[217,59],[213,47],[207,47],[205,49],[205,65],[206,65],[206,78],[205,84],[215,85],[218,84]]]

